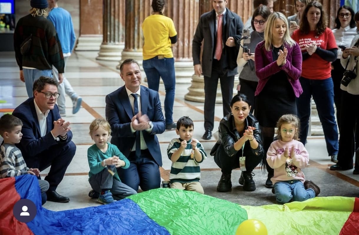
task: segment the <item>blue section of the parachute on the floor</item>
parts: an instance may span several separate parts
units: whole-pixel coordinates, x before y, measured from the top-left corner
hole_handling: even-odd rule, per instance
[[[97,207],[55,212],[41,206],[36,177],[16,177],[15,188],[22,199],[32,200],[37,207],[36,217],[27,223],[34,234],[169,234],[130,199]]]

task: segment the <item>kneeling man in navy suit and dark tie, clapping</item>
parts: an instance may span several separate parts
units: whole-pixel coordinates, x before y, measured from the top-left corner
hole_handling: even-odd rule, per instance
[[[123,183],[143,191],[160,187],[162,155],[156,134],[165,130],[157,91],[140,86],[141,69],[137,61],[126,59],[120,66],[125,85],[106,96],[106,119],[112,139],[129,159],[130,167],[119,168]]]

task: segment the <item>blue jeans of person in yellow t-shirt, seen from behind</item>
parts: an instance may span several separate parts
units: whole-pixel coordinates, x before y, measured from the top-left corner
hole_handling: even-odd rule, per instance
[[[166,124],[173,123],[172,114],[174,103],[174,89],[176,88],[174,59],[158,59],[158,57],[156,56],[148,60],[143,60],[142,66],[147,76],[147,83],[149,89],[158,91],[159,78],[162,78],[164,89],[166,91],[166,95],[164,98],[164,117],[166,120]]]

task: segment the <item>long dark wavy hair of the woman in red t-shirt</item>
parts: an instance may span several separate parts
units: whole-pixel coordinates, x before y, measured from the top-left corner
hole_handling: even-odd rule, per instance
[[[300,19],[299,30],[303,34],[308,34],[309,31],[311,31],[311,28],[310,28],[309,22],[308,22],[308,18],[307,18],[307,14],[308,14],[309,9],[312,6],[314,6],[315,8],[318,8],[320,10],[320,19],[315,27],[315,31],[316,31],[317,35],[321,35],[327,27],[327,14],[323,11],[322,4],[317,1],[312,1],[312,2],[308,3],[308,5],[306,6],[306,9],[304,9],[303,17],[302,17],[302,19]]]

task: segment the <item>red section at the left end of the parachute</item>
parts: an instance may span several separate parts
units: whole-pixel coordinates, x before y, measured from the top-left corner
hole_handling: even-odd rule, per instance
[[[20,199],[20,195],[15,189],[15,178],[0,179],[0,234],[33,235],[26,223],[20,222],[14,217],[13,207]]]

